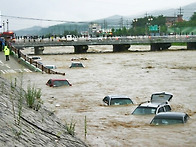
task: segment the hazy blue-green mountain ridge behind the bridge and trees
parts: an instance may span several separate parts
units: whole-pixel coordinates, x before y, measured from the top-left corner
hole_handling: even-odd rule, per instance
[[[157,10],[148,12],[148,15],[152,16],[176,16],[179,14],[179,8],[175,9],[167,9],[167,10]],[[193,15],[193,13],[196,11],[196,2],[181,7],[183,19],[189,20],[190,17]],[[99,19],[99,20],[92,20],[90,22],[83,22],[83,23],[65,23],[65,24],[59,24],[50,26],[48,28],[42,28],[39,26],[35,26],[29,29],[23,29],[15,31],[18,36],[21,35],[44,35],[44,34],[62,34],[65,30],[67,31],[74,31],[77,30],[78,32],[81,31],[88,31],[88,26],[91,23],[98,23],[101,25],[102,28],[120,28],[122,26],[130,26],[132,23],[132,20],[134,18],[141,18],[144,17],[144,14],[141,15],[131,15],[131,16],[120,16],[120,15],[114,15],[111,17]]]

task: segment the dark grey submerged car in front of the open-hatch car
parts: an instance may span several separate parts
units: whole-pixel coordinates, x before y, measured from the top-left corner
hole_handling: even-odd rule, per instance
[[[189,119],[188,114],[182,112],[162,112],[154,116],[152,125],[183,124]]]

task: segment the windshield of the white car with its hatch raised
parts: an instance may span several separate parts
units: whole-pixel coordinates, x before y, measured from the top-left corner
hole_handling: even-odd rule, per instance
[[[152,107],[137,107],[132,114],[136,115],[147,115],[147,114],[155,114],[156,108]]]

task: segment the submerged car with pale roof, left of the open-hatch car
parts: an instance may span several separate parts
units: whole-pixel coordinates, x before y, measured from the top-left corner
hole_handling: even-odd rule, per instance
[[[108,95],[103,98],[106,105],[128,105],[133,104],[133,101],[128,96],[123,95]]]

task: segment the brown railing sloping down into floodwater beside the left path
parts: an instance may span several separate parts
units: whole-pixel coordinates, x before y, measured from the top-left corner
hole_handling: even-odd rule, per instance
[[[23,54],[19,49],[9,46],[9,48],[18,56],[18,58],[24,59],[25,62],[31,64],[32,66],[35,66],[36,68],[40,69],[42,72],[48,73],[48,74],[60,74],[60,75],[65,75],[65,73],[62,72],[57,72],[52,69],[46,68],[43,64],[33,60],[29,56]]]

